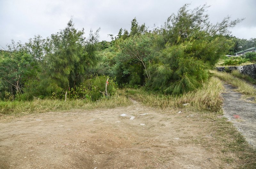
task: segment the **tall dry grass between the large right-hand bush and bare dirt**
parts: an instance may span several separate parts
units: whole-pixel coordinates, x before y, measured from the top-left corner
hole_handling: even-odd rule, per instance
[[[147,92],[142,88],[125,89],[125,92],[128,96],[147,106],[169,109],[183,107],[183,104],[189,103],[197,110],[211,109],[212,111],[219,111],[222,104],[220,97],[222,89],[221,81],[216,77],[211,77],[209,82],[205,83],[201,88],[181,96]]]

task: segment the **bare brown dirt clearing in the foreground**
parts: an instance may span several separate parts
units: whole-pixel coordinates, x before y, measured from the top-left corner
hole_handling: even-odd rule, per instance
[[[214,142],[212,131],[198,114],[179,111],[133,101],[129,107],[0,119],[0,168],[233,168],[219,150],[191,141]]]

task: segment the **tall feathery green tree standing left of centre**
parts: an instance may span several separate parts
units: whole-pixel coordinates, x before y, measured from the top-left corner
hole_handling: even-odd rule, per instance
[[[86,69],[99,62],[96,53],[99,29],[89,34],[85,41],[84,29],[75,29],[72,19],[59,33],[52,34],[52,52],[45,56],[43,72],[40,74],[41,87],[48,93],[60,94],[64,90],[75,88],[82,82]]]

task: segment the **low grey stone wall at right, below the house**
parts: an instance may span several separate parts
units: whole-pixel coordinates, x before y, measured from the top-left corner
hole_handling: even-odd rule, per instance
[[[232,70],[238,70],[240,73],[249,75],[256,79],[256,64],[249,64],[244,66],[227,66],[227,67],[216,67],[218,71],[231,72]]]

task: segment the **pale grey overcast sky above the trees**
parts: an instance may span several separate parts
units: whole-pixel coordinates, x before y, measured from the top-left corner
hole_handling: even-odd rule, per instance
[[[190,8],[211,5],[207,12],[212,23],[227,15],[245,18],[232,34],[256,38],[256,0],[0,0],[0,45],[5,48],[11,39],[24,43],[37,34],[50,36],[65,28],[71,16],[77,29],[84,27],[85,35],[100,27],[100,41],[109,41],[108,34],[130,30],[134,17],[151,29],[163,25],[185,3],[191,3]]]

